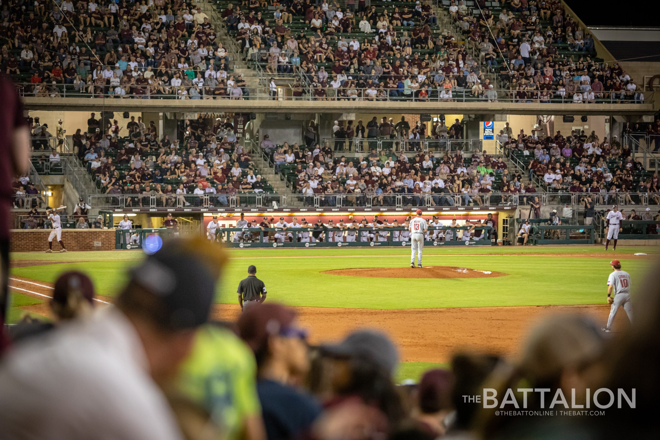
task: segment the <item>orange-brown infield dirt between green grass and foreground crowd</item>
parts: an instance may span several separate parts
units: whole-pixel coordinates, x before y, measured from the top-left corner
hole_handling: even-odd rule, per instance
[[[418,270],[418,269],[411,269]],[[47,287],[28,284],[12,276],[11,285],[51,296]],[[31,281],[31,280],[28,280]],[[47,282],[39,282],[52,286]],[[17,291],[48,301],[48,298]],[[100,299],[112,301],[108,297]],[[99,303],[98,307],[105,307]],[[47,303],[21,307],[24,311],[50,316]],[[551,313],[587,314],[605,325],[609,305],[544,305],[535,307],[456,307],[446,309],[341,309],[333,307],[294,307],[300,325],[310,330],[310,343],[342,338],[358,328],[381,329],[397,342],[401,360],[407,362],[446,362],[457,350],[491,352],[516,356],[529,329]],[[240,316],[238,304],[216,304],[214,319],[235,321]],[[628,327],[625,313],[618,313],[614,328]]]

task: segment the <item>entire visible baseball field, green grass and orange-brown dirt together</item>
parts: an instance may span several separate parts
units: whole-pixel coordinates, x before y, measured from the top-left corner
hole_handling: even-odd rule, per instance
[[[218,286],[214,313],[236,316],[236,286],[247,267],[255,265],[268,286],[268,301],[296,307],[312,340],[339,338],[354,327],[382,325],[401,345],[409,363],[401,370],[403,378],[414,375],[416,365],[425,365],[419,362],[449,361],[453,351],[465,344],[516,354],[519,338],[540,315],[552,311],[577,311],[607,322],[603,279],[609,261],[616,255],[633,278],[640,278],[653,258],[634,255],[642,250],[649,253],[622,246],[616,254],[599,253],[591,246],[432,246],[424,255],[424,268],[413,269],[406,268],[408,247],[237,248],[231,250],[232,259]],[[44,307],[47,298],[30,294],[48,294],[48,288],[28,281],[50,286],[65,270],[84,270],[100,298],[112,302],[126,280],[125,270],[143,259],[142,251],[13,255],[11,284],[22,289],[13,296],[13,320],[26,312],[49,315]],[[548,285],[564,288],[548,291]],[[407,321],[413,316],[419,321],[409,328]],[[492,325],[492,319],[498,319],[498,331],[488,331],[486,338],[482,330]],[[618,316],[615,326],[626,327],[622,320]],[[439,342],[432,336],[442,338],[447,331],[458,339]],[[409,344],[409,338],[419,342]]]

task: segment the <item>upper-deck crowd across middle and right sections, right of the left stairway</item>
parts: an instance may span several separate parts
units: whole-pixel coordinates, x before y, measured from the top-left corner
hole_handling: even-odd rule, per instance
[[[593,37],[559,1],[515,0],[495,12],[477,3],[447,2],[457,35],[438,28],[428,1],[357,12],[336,1],[229,3],[222,17],[267,74],[300,74],[290,84],[294,99],[644,101],[618,63],[596,61]]]

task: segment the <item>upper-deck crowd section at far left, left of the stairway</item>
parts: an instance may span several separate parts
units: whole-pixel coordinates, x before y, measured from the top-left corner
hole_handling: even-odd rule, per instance
[[[24,93],[243,99],[242,75],[209,17],[182,0],[14,2],[0,13],[0,61]],[[20,52],[20,57],[18,57]],[[20,80],[20,81],[19,81]]]

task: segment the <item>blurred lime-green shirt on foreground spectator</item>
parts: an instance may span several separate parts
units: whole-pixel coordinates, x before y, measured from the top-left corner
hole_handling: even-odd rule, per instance
[[[197,332],[178,388],[209,411],[222,440],[237,440],[246,418],[261,414],[256,377],[252,350],[230,330],[208,325]]]

